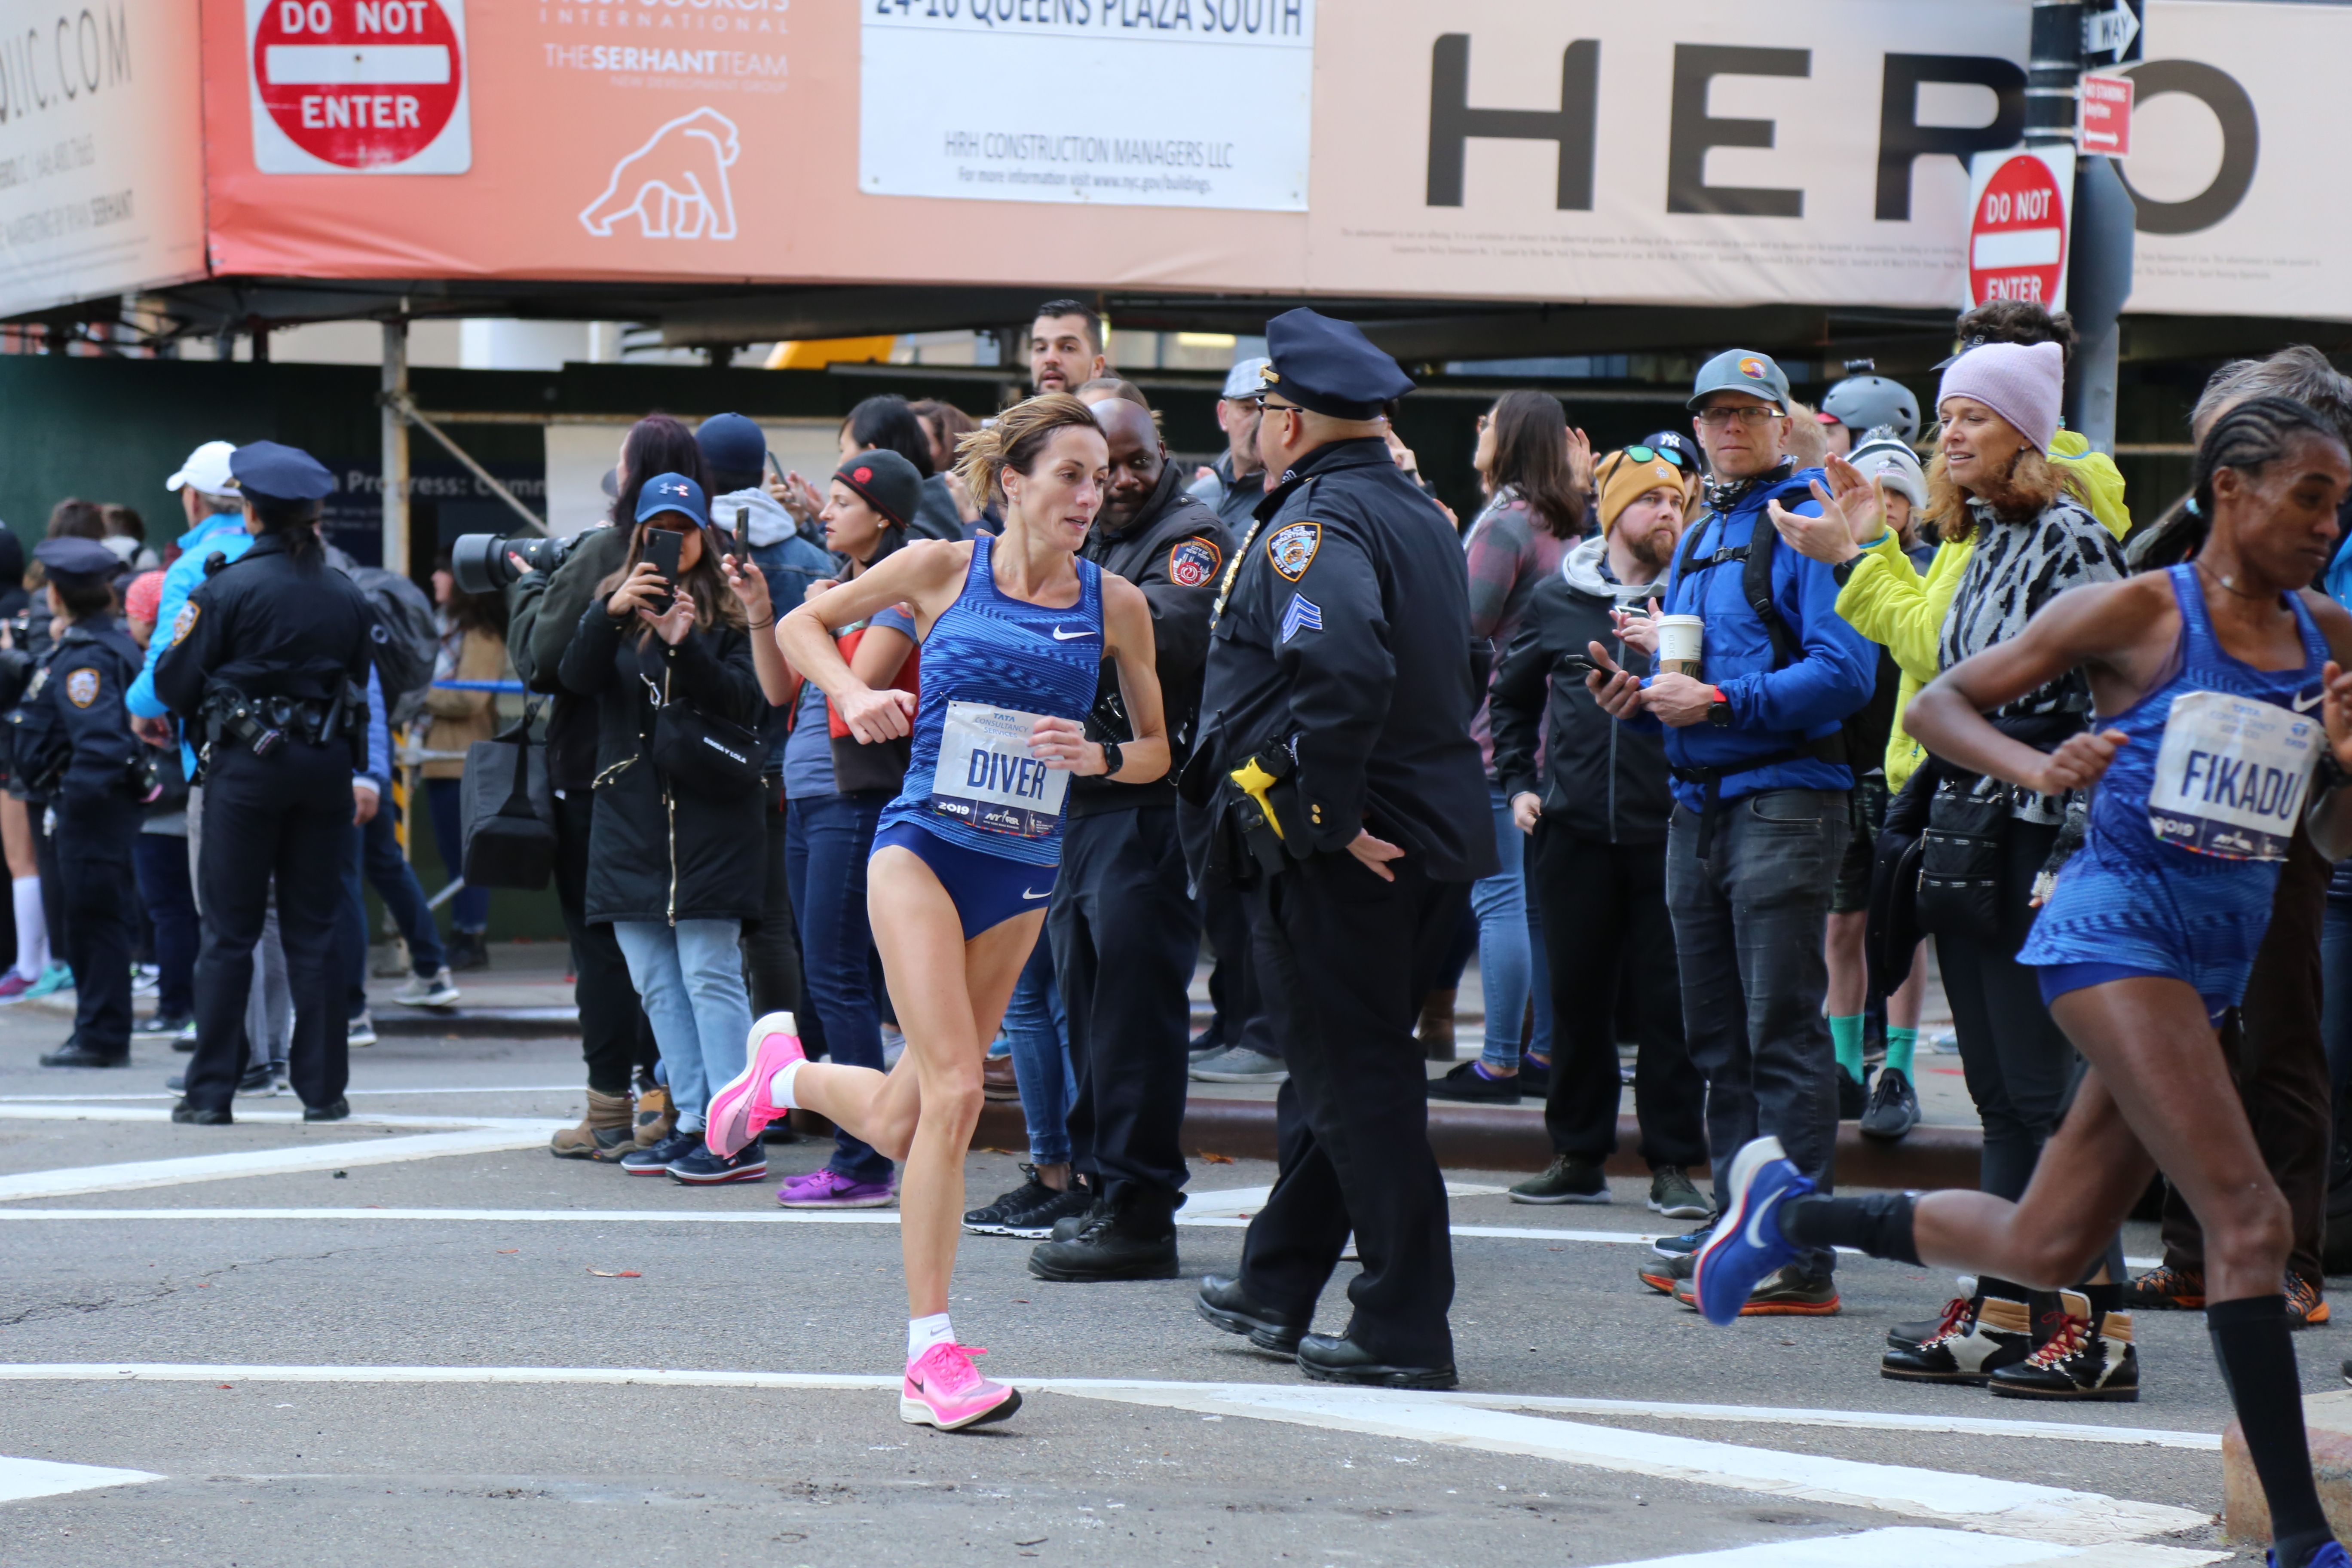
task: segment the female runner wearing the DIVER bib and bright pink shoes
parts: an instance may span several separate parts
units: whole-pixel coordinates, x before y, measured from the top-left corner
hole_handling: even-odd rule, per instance
[[[804,1105],[906,1161],[898,1237],[910,1324],[898,1415],[941,1429],[1021,1406],[948,1331],[948,1279],[981,1053],[1044,924],[1070,773],[1150,783],[1169,766],[1150,604],[1134,583],[1077,559],[1108,470],[1110,447],[1087,404],[1033,397],[964,437],[960,473],[974,496],[1004,501],[1002,536],[910,543],[776,623],[786,658],[858,741],[915,738],[866,872],[908,1048],[889,1074],[804,1063],[790,1016],[771,1013],[753,1025],[750,1065],[713,1095],[708,1140],[743,1147]],[[866,686],[826,630],[901,602],[922,632],[920,705]],[[1084,731],[1105,658],[1136,733],[1117,766]]]

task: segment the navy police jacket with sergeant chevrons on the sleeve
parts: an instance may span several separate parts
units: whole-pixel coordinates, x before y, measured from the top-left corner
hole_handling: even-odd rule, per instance
[[[1470,578],[1444,512],[1388,444],[1317,447],[1258,508],[1209,637],[1195,766],[1289,738],[1315,849],[1359,830],[1437,882],[1496,870],[1470,738]]]

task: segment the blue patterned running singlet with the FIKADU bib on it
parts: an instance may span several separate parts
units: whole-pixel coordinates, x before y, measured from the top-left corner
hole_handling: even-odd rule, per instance
[[[2326,745],[2326,637],[2288,595],[2303,665],[2256,670],[2220,646],[2194,567],[2173,567],[2178,672],[2112,719],[2131,743],[2091,795],[2091,830],[2058,872],[2020,964],[2119,964],[2234,1004],[2270,926],[2279,863]]]

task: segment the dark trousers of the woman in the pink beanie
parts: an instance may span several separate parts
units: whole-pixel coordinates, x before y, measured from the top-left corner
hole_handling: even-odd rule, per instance
[[[1952,1034],[1969,1098],[1985,1124],[1976,1185],[2016,1201],[2042,1145],[2058,1131],[2074,1079],[2074,1046],[2042,1004],[2042,983],[2018,964],[2034,924],[2034,872],[2058,839],[2056,823],[2009,823],[2002,858],[1999,938],[1938,936],[1936,966],[1952,1001]]]

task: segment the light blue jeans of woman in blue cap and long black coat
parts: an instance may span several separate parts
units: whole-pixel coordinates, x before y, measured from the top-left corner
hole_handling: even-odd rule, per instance
[[[654,1044],[668,1067],[677,1131],[703,1131],[710,1086],[743,1072],[750,992],[743,990],[743,922],[616,919],[612,933],[628,959],[628,980],[654,1020]]]

